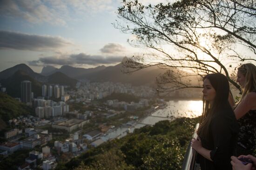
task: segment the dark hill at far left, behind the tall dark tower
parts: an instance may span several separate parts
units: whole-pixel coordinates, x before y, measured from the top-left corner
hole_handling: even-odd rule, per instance
[[[41,96],[42,83],[36,81],[27,72],[18,70],[12,76],[6,79],[2,79],[1,85],[7,88],[7,94],[14,97],[20,98],[20,83],[21,81],[28,80],[32,83],[32,92],[34,92],[34,97]]]

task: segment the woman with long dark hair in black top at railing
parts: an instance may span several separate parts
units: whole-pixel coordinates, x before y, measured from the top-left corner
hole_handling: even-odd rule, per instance
[[[201,170],[232,170],[238,123],[229,105],[229,82],[221,73],[208,74],[203,79],[203,113],[197,130],[198,138],[191,141],[197,151]]]

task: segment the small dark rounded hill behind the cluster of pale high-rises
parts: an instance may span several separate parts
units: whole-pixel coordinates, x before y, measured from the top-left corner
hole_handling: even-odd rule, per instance
[[[55,72],[48,76],[48,84],[59,84],[59,85],[69,85],[74,88],[77,80],[74,78],[68,77],[66,74],[62,72]]]

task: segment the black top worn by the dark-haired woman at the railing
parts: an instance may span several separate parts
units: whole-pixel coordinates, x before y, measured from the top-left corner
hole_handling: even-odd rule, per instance
[[[230,157],[233,155],[239,130],[231,107],[217,111],[210,123],[209,139],[201,137],[202,147],[211,150],[210,161],[198,154],[201,170],[232,170]]]

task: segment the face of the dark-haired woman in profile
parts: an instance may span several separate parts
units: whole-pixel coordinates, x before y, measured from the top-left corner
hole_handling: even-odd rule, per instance
[[[209,79],[205,78],[203,80],[202,86],[203,86],[203,90],[202,90],[203,99],[206,101],[209,101],[209,103],[212,103],[216,96],[216,91],[213,88],[213,86],[211,85]]]

